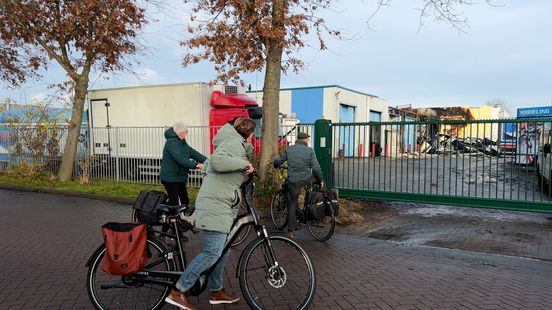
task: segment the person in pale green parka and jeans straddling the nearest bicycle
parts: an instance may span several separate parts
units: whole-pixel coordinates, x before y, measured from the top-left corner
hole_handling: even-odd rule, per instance
[[[253,172],[247,152],[251,146],[246,142],[253,134],[255,122],[238,118],[233,124],[223,126],[213,138],[215,152],[206,162],[205,178],[195,202],[196,227],[203,230],[203,250],[188,265],[180,279],[165,298],[169,304],[181,309],[195,309],[187,291],[201,273],[211,267],[221,256],[232,223],[237,216],[242,199],[240,186],[247,174]],[[209,303],[229,304],[239,297],[223,289],[224,265],[228,253],[220,260],[208,279]]]

